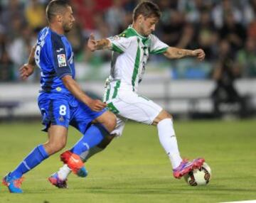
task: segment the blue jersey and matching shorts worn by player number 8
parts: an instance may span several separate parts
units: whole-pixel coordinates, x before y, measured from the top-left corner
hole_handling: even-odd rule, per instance
[[[71,75],[75,79],[73,52],[68,39],[58,35],[50,28],[43,28],[38,34],[35,52],[36,65],[41,69],[41,94],[38,106],[46,126],[58,125],[68,128],[74,126],[85,133],[91,121],[103,114],[92,111],[87,105],[78,101],[63,84],[61,78]]]

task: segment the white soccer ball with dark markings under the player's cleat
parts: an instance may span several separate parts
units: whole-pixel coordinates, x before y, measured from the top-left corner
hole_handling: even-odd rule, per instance
[[[184,179],[191,186],[197,185],[207,185],[210,181],[211,171],[210,166],[207,163],[203,163],[202,167],[199,169],[191,170]]]

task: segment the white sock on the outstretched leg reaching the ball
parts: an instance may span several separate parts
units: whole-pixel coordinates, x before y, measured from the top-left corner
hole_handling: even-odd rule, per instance
[[[178,151],[178,143],[174,132],[174,124],[171,119],[164,119],[157,124],[159,132],[159,141],[164,150],[166,150],[171,165],[177,168],[180,165],[182,158]]]

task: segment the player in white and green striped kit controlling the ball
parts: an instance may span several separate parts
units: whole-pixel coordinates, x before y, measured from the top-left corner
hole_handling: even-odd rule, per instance
[[[200,168],[204,159],[196,158],[188,161],[181,158],[172,116],[154,101],[139,95],[137,91],[146,70],[149,54],[163,54],[170,59],[196,57],[198,60],[203,60],[205,53],[201,49],[174,48],[161,42],[152,34],[160,16],[161,11],[156,4],[143,1],[134,9],[133,23],[127,30],[101,40],[95,40],[91,35],[87,46],[91,51],[103,49],[113,51],[110,77],[107,79],[104,94],[108,108],[118,117],[117,126],[112,134],[120,136],[127,119],[156,126],[161,146],[171,161],[173,175],[181,178],[194,168]],[[90,156],[103,150],[110,141],[105,141],[102,146],[95,146],[82,153],[82,160],[86,161]],[[69,172],[68,166],[64,165],[54,175],[58,174],[62,180],[66,180]]]

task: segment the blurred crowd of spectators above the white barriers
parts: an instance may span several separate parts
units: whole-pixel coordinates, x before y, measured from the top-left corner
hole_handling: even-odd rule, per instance
[[[68,38],[75,60],[101,64],[110,52],[87,51],[96,38],[117,35],[132,23],[137,0],[71,0],[76,18]],[[256,0],[158,0],[162,16],[156,35],[170,46],[203,48],[208,78],[256,78]],[[36,35],[47,25],[47,0],[0,1],[0,82],[18,81],[18,67],[27,61]],[[150,60],[164,60],[151,57]],[[221,74],[220,74],[221,72]],[[38,79],[38,77],[36,77]]]

